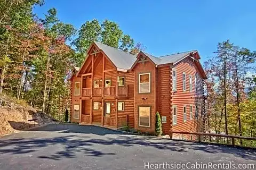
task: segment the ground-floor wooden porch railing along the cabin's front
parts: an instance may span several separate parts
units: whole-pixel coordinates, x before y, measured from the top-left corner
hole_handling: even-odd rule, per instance
[[[127,126],[128,123],[128,116],[127,115],[120,115],[117,117],[107,117],[103,116],[101,123],[100,122],[92,122],[91,121],[91,115],[81,115],[81,123],[80,124],[92,124],[92,125],[98,125],[98,126],[106,126],[109,128],[122,128],[124,126]]]

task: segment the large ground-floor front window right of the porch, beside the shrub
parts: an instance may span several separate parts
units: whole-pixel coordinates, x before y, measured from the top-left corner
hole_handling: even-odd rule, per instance
[[[150,127],[150,107],[139,107],[139,126]]]

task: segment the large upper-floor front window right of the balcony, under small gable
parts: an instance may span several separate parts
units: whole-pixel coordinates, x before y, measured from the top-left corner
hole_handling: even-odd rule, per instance
[[[139,93],[150,92],[150,73],[139,74]]]

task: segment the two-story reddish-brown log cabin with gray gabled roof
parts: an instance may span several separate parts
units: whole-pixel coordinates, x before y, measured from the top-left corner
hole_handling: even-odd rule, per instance
[[[203,132],[206,74],[197,50],[155,57],[93,42],[71,77],[71,122],[163,134]],[[178,137],[189,138],[189,137]]]

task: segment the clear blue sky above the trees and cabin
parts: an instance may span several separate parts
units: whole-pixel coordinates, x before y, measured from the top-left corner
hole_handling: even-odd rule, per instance
[[[119,24],[125,34],[141,42],[155,56],[197,49],[202,62],[213,56],[219,42],[256,50],[256,1],[83,1],[45,0],[34,12],[49,8],[77,29],[92,19]]]

